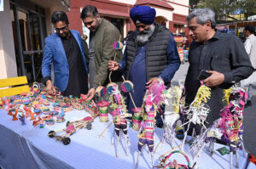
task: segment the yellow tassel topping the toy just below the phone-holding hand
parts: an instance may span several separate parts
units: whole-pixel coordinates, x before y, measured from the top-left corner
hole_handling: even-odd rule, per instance
[[[211,96],[211,88],[201,85],[199,87],[196,96],[195,96],[195,101],[193,102],[193,106],[199,108],[201,105],[201,102],[207,103],[207,100],[210,99]]]

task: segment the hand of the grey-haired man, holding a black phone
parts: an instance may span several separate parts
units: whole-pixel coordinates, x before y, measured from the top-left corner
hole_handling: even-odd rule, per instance
[[[207,72],[212,73],[211,76],[202,81],[207,85],[207,87],[217,87],[224,82],[224,74],[213,70],[207,70]]]

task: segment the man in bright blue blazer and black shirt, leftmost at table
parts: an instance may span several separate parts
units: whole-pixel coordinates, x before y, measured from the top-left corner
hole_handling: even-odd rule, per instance
[[[87,65],[79,31],[69,30],[67,14],[55,11],[51,22],[55,33],[45,38],[42,74],[47,93],[55,94],[55,87],[62,95],[79,97],[88,92]],[[51,81],[51,65],[54,66],[55,82]],[[55,86],[54,86],[55,85]]]

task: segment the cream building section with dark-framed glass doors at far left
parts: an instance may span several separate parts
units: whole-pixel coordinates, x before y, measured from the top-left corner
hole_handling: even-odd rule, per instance
[[[54,33],[51,14],[67,12],[69,0],[2,0],[0,11],[0,79],[26,76],[40,81],[44,38]]]

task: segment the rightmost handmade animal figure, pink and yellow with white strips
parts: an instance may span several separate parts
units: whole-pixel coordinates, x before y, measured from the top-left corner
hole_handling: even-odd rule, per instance
[[[207,131],[201,134],[201,137],[195,140],[195,143],[191,146],[193,156],[198,156],[201,150],[209,143],[211,154],[213,155],[214,142],[216,139],[220,139],[223,142],[230,144],[230,169],[233,168],[233,153],[236,151],[236,167],[239,167],[239,155],[240,148],[243,150],[243,155],[246,157],[244,144],[242,141],[243,132],[243,114],[244,104],[247,99],[247,93],[240,87],[232,87],[224,92],[227,104],[223,110],[221,110],[221,118],[214,121],[212,127],[209,127]]]

